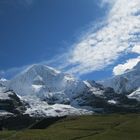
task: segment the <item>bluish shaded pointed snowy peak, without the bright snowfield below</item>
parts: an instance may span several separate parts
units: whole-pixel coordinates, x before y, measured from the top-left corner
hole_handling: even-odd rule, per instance
[[[36,96],[51,104],[67,104],[86,88],[84,82],[45,65],[30,66],[7,86],[20,96]]]

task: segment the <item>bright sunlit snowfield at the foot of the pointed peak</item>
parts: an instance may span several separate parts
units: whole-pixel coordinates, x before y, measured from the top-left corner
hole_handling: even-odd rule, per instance
[[[36,117],[53,117],[53,116],[65,116],[65,115],[84,115],[93,114],[93,111],[87,109],[78,109],[71,105],[54,104],[49,105],[45,101],[39,100],[36,96],[25,96],[22,99],[30,104],[25,114]]]

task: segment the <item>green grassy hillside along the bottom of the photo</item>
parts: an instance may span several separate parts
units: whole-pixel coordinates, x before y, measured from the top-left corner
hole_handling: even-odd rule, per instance
[[[47,129],[1,131],[0,140],[140,140],[140,114],[69,117]]]

